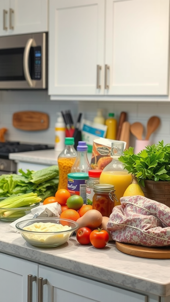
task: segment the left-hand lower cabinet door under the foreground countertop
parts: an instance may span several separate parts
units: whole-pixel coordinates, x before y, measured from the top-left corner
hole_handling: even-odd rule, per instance
[[[29,274],[38,276],[38,264],[0,253],[0,301],[26,302]],[[37,281],[32,286],[37,302]]]

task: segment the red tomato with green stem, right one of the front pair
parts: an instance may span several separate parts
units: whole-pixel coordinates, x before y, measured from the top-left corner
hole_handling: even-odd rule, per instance
[[[98,230],[93,230],[90,233],[90,242],[96,249],[101,249],[109,242],[109,234],[99,228]]]

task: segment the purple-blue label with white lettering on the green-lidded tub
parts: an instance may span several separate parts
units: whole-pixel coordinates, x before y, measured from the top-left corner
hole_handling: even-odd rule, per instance
[[[73,179],[68,178],[68,191],[71,195],[80,195],[86,204],[86,183],[87,179]]]

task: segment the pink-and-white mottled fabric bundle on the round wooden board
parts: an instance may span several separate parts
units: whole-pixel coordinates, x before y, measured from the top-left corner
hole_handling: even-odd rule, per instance
[[[107,223],[113,240],[140,246],[170,245],[170,208],[144,196],[120,198]]]

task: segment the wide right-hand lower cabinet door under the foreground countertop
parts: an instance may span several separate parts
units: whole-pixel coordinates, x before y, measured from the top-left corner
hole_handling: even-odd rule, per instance
[[[39,277],[47,279],[44,301],[48,302],[147,302],[147,296],[39,265]]]

